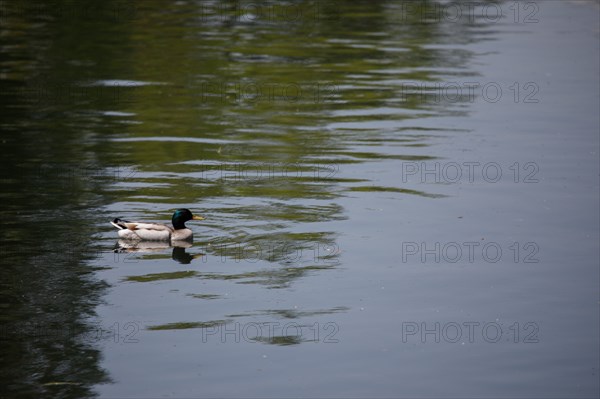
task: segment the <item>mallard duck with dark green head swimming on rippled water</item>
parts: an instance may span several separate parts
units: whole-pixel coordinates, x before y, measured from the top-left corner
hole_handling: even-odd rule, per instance
[[[136,241],[191,241],[192,230],[185,227],[188,220],[204,220],[202,216],[194,216],[189,209],[178,209],[173,213],[173,227],[160,223],[128,222],[116,218],[110,224],[119,229],[119,237]]]

